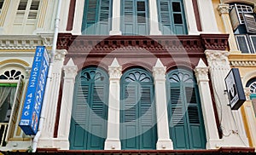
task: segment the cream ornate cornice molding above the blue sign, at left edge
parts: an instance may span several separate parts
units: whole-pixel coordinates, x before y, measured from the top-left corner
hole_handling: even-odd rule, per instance
[[[0,49],[36,49],[37,46],[51,48],[52,35],[2,35],[0,37]]]

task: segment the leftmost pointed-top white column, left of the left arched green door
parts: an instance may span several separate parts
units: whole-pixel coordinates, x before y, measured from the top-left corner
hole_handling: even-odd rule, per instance
[[[55,147],[62,150],[69,149],[69,129],[70,120],[73,106],[73,89],[75,83],[75,77],[78,72],[78,66],[74,65],[72,58],[67,62],[66,66],[63,66],[65,73],[62,98],[61,98],[61,113],[59,119],[58,137],[55,139]]]

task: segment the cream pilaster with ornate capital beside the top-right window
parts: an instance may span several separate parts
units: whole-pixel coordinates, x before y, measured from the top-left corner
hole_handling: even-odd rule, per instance
[[[230,10],[229,10],[230,5],[229,4],[224,4],[220,3],[218,4],[218,14],[221,16],[221,19],[224,23],[224,28],[225,32],[230,34],[229,37],[229,45],[230,45],[230,52],[238,52],[237,45],[236,45],[236,38],[233,32],[233,28],[230,22]],[[239,51],[238,53],[241,53]]]

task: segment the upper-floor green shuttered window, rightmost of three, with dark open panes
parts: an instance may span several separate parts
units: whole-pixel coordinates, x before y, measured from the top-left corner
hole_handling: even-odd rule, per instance
[[[160,30],[165,34],[187,34],[183,0],[158,0]]]

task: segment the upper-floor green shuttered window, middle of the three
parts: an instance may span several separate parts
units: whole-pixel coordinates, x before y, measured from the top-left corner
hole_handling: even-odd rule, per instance
[[[148,0],[122,0],[123,35],[148,35]]]

